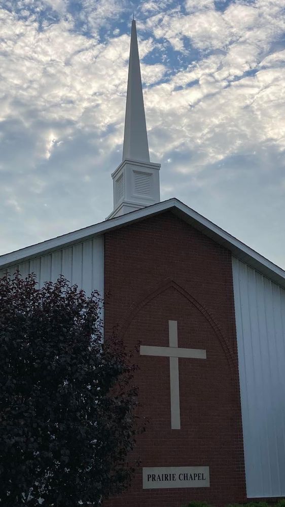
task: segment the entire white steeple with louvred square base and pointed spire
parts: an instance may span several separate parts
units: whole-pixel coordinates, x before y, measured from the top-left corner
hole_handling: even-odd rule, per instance
[[[123,161],[112,174],[114,210],[108,219],[160,201],[160,164],[150,162],[135,20],[132,20]]]

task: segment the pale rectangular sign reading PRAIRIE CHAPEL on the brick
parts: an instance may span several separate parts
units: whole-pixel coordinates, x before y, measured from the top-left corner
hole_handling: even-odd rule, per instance
[[[208,466],[163,466],[142,468],[142,488],[208,488]]]

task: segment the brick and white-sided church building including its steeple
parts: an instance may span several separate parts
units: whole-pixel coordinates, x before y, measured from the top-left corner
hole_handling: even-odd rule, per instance
[[[285,271],[176,198],[150,161],[135,21],[123,159],[108,219],[0,257],[40,286],[63,274],[108,304],[135,362],[140,458],[104,507],[285,496]]]

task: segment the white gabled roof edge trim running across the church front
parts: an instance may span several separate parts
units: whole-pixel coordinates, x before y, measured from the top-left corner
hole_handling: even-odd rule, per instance
[[[0,268],[24,262],[26,259],[38,257],[59,248],[67,248],[74,243],[88,239],[90,236],[104,234],[112,229],[137,222],[166,211],[167,209],[173,209],[175,214],[181,216],[186,222],[192,224],[196,229],[200,230],[217,243],[228,248],[234,257],[252,266],[254,269],[285,288],[285,271],[283,269],[175,198],[117,216],[113,219],[100,222],[99,224],[79,229],[78,231],[57,236],[56,238],[35,245],[21,248],[11,253],[6,253],[0,256]]]

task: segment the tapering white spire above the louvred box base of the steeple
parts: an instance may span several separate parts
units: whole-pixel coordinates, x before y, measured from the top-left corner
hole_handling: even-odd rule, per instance
[[[123,160],[150,161],[149,143],[142,95],[136,25],[132,20]]]

